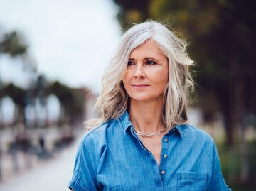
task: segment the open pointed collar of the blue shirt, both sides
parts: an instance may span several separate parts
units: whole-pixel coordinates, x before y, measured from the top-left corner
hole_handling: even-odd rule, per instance
[[[132,127],[132,123],[129,120],[129,113],[128,113],[128,111],[125,111],[124,114],[122,114],[122,116],[119,117],[118,121],[122,124],[122,127],[124,129],[124,133],[126,133],[128,128]],[[169,130],[169,133],[171,133],[172,131],[176,132],[182,138],[184,136],[184,126],[186,126],[186,124],[176,125],[176,126],[172,127]]]

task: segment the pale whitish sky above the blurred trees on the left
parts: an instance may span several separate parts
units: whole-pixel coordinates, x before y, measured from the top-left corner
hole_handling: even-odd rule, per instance
[[[117,11],[111,0],[0,0],[0,32],[21,32],[49,81],[99,92],[120,37]],[[28,87],[35,75],[22,62],[1,55],[1,80]]]

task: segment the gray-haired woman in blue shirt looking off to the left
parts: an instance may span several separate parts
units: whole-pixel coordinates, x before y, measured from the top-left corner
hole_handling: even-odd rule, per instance
[[[124,33],[70,190],[230,190],[213,138],[186,124],[192,64],[186,43],[161,23]]]

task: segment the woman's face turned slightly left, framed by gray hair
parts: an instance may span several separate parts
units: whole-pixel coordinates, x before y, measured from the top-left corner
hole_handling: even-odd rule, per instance
[[[146,40],[132,50],[123,83],[129,97],[139,102],[162,98],[169,80],[169,62],[154,42]]]

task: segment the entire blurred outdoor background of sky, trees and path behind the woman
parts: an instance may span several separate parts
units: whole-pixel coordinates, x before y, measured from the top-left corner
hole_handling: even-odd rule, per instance
[[[227,184],[256,190],[256,6],[239,0],[0,0],[0,190],[68,190],[101,77],[129,23],[188,43],[190,123],[215,139]]]

